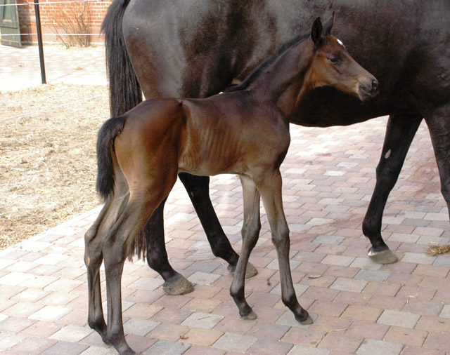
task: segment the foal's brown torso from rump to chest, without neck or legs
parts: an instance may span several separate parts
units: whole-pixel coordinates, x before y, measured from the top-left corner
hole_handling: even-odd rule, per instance
[[[126,117],[115,143],[125,175],[149,160],[153,170],[158,154],[167,165],[194,175],[248,174],[276,165],[290,142],[288,123],[276,107],[247,91],[146,100]]]

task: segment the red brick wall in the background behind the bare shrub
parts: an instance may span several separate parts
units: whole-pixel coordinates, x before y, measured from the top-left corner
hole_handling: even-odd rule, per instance
[[[74,18],[73,14],[79,14],[82,11],[84,2],[72,2],[74,0],[39,0],[39,13],[41,15],[41,28],[44,42],[58,42],[56,32],[63,33],[61,26],[69,29],[67,16]],[[68,4],[64,4],[67,2]],[[113,0],[86,1],[89,11],[90,33],[96,34],[89,36],[91,43],[103,43],[100,33],[101,22],[105,17],[108,6]],[[53,3],[53,4],[52,4]],[[58,3],[58,4],[56,4]],[[18,4],[27,4],[18,6],[20,33],[23,43],[37,43],[36,17],[34,15],[34,0],[18,0]],[[63,15],[63,11],[65,15]],[[67,37],[65,37],[67,38]]]

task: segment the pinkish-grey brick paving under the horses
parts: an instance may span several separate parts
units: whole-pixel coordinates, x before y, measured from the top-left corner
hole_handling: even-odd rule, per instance
[[[246,283],[258,319],[240,319],[229,296],[226,265],[212,255],[177,183],[165,210],[167,250],[195,290],[164,295],[155,272],[141,261],[127,262],[122,294],[131,347],[144,354],[186,355],[450,354],[450,256],[425,255],[430,243],[450,241],[425,125],[383,220],[383,236],[400,262],[381,266],[366,256],[369,244],[361,222],[375,184],[385,123],[382,118],[347,128],[292,126],[283,196],[293,280],[300,303],[313,315],[311,326],[296,323],[281,303],[264,213],[250,257],[259,274]],[[238,179],[212,178],[210,189],[221,224],[239,250]],[[115,354],[86,325],[83,235],[97,213],[0,251],[1,354]]]

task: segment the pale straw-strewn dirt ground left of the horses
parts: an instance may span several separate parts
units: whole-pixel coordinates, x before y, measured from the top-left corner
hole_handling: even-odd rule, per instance
[[[0,93],[0,107],[3,249],[101,203],[95,146],[109,117],[108,90],[45,85]]]

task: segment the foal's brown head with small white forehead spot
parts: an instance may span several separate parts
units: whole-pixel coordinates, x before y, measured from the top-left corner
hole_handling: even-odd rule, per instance
[[[309,87],[333,86],[357,96],[359,100],[375,96],[378,93],[378,81],[375,76],[361,67],[344,44],[330,34],[333,18],[325,28],[322,27],[320,18],[312,25],[311,41],[315,51],[307,72]]]

